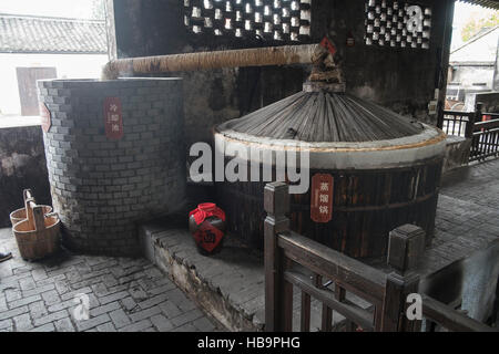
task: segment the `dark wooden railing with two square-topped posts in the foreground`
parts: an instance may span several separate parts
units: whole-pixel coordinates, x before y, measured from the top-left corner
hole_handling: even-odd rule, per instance
[[[421,320],[406,316],[407,296],[418,292],[416,266],[424,252],[425,231],[401,226],[390,232],[389,274],[289,230],[288,186],[265,187],[265,329],[293,331],[293,291],[301,291],[299,331],[310,331],[310,301],[322,303],[322,331],[333,330],[333,311],[346,320],[347,331],[420,331]],[[310,277],[312,274],[312,277]],[[370,303],[360,306],[348,293]],[[492,331],[491,327],[421,294],[425,320],[451,331]]]

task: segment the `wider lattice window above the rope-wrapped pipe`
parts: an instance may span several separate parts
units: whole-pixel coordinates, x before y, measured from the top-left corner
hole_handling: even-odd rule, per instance
[[[310,37],[312,0],[184,0],[184,23],[192,32],[275,41]]]

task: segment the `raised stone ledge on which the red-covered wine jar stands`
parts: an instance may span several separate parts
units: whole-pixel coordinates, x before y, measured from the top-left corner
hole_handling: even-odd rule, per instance
[[[220,253],[202,256],[180,216],[142,225],[139,235],[144,256],[227,330],[264,330],[265,275],[259,253],[227,236]],[[333,288],[330,284],[329,289]],[[293,293],[293,327],[297,331],[301,291],[294,288]],[[370,310],[369,303],[349,292],[347,300]],[[312,299],[310,331],[319,330],[320,313],[322,303]],[[336,331],[342,330],[344,320],[343,315],[334,312]]]

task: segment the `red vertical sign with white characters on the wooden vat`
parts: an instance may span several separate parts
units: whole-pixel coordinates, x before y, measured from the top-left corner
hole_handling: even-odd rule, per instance
[[[310,219],[315,222],[328,222],[333,217],[334,179],[328,174],[312,177]]]

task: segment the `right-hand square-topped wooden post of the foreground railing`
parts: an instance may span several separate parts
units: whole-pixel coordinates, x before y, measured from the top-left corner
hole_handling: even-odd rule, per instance
[[[408,320],[407,296],[417,293],[419,274],[416,266],[425,251],[425,231],[414,225],[404,225],[390,232],[388,264],[394,272],[388,274],[383,303],[381,331],[416,332],[421,321]]]

